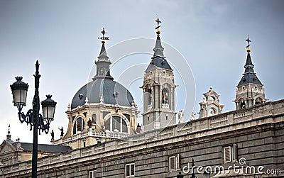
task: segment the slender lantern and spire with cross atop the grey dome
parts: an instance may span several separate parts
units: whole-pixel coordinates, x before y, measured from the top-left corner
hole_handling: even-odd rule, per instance
[[[102,28],[102,36],[98,39],[102,40],[102,48],[99,52],[99,57],[97,57],[97,60],[95,61],[95,64],[97,65],[97,74],[94,76],[94,79],[97,79],[97,77],[108,77],[109,79],[114,79],[111,77],[110,71],[109,71],[109,65],[111,65],[111,61],[109,60],[109,57],[107,56],[107,50],[104,46],[106,43],[106,40],[109,40],[109,37],[105,36],[107,32]]]

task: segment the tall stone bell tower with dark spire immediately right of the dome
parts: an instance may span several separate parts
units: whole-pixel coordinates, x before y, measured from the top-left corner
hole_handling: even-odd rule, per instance
[[[143,127],[144,130],[163,128],[176,123],[175,85],[173,69],[165,60],[160,42],[160,20],[155,21],[157,39],[154,55],[143,79]]]

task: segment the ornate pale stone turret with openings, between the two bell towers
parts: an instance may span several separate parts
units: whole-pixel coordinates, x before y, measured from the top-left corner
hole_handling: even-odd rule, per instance
[[[203,95],[203,101],[200,102],[200,118],[222,113],[224,105],[220,103],[220,95],[217,94],[212,87],[210,87],[209,91]]]

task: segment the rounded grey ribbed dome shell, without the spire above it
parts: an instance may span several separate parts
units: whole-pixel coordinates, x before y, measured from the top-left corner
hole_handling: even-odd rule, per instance
[[[99,104],[103,99],[104,104],[131,106],[133,101],[133,96],[128,89],[107,77],[94,78],[92,82],[79,89],[72,99],[71,109],[83,106],[86,96],[89,104]]]

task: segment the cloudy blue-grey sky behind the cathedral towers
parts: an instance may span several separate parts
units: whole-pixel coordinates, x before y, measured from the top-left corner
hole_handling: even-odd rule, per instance
[[[281,0],[141,0],[135,3],[130,0],[1,0],[0,140],[6,139],[9,125],[12,140],[20,138],[21,142],[28,143],[33,140],[32,131],[18,121],[18,111],[12,104],[9,85],[15,82],[14,77],[22,76],[23,82],[29,84],[27,106],[23,109],[26,112],[32,108],[33,74],[35,61],[39,60],[40,101],[45,99],[45,94],[52,94],[58,103],[51,123],[58,139],[58,128],[67,130],[67,105],[77,90],[92,78],[94,60],[101,48],[98,37],[102,28],[110,37],[106,47],[116,48],[125,40],[154,39],[157,15],[162,21],[160,36],[164,54],[175,66],[175,82],[180,86],[176,90],[176,111],[185,111],[185,121],[192,111],[199,111],[202,94],[211,86],[220,94],[224,112],[235,109],[232,101],[244,73],[247,35],[251,39],[254,69],[264,84],[266,98],[283,99],[283,6]],[[154,45],[148,45],[149,51]],[[179,52],[178,58],[171,55],[170,49]],[[146,69],[151,54],[136,51],[120,61],[120,64],[113,62],[111,74],[123,84],[129,81],[125,76],[136,77],[124,86],[131,91],[142,112],[142,91],[138,87],[142,85],[141,69]],[[187,65],[182,67],[181,61]],[[190,74],[192,77],[187,76]],[[186,102],[190,104],[187,106]],[[50,138],[50,134],[42,133],[38,143],[50,143]]]

